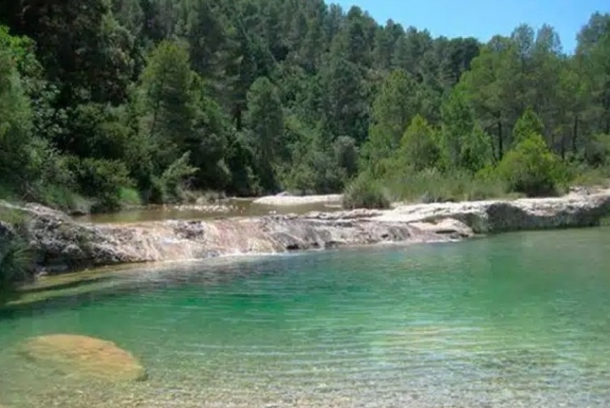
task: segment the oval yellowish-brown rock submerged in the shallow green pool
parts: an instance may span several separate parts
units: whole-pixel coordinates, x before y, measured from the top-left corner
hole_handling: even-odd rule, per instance
[[[146,371],[131,353],[113,342],[80,335],[44,335],[23,345],[23,355],[68,374],[110,381],[146,380]]]

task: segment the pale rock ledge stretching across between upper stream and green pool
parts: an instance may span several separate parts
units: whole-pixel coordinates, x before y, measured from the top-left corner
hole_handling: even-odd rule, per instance
[[[25,215],[39,269],[64,272],[120,263],[204,259],[384,242],[448,241],[473,234],[598,225],[610,214],[610,189],[561,198],[403,205],[303,216],[126,225],[78,223],[40,205],[0,208]],[[0,236],[11,234],[0,222]]]

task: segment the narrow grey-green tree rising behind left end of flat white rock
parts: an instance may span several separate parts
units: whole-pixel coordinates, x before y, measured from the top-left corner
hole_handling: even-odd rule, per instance
[[[247,95],[247,129],[250,133],[260,186],[274,192],[278,185],[274,164],[277,145],[282,140],[284,114],[278,92],[267,77],[260,77],[252,84]]]

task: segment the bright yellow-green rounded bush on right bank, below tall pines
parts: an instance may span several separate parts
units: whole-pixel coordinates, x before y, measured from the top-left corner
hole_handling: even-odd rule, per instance
[[[542,136],[533,133],[504,156],[498,174],[512,191],[527,196],[557,195],[567,178],[560,158],[549,150]]]

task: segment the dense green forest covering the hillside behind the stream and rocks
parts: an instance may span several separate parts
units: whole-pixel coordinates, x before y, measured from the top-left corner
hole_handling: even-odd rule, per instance
[[[610,15],[570,54],[551,26],[482,44],[323,0],[1,0],[0,24],[0,198],[356,207],[610,176]]]

